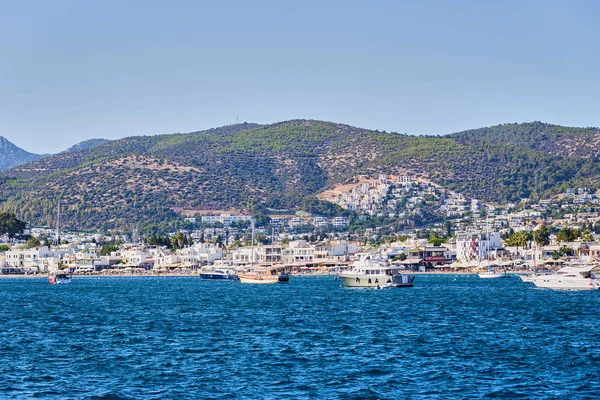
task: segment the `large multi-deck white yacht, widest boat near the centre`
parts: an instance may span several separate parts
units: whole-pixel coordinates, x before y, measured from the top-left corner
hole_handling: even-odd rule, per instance
[[[401,274],[400,271],[400,267],[388,266],[384,261],[365,255],[352,264],[352,269],[340,272],[338,276],[346,287],[412,287],[415,276]]]

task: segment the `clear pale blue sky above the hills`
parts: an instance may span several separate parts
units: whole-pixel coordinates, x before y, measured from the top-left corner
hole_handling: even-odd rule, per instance
[[[0,136],[600,125],[600,2],[0,1]]]

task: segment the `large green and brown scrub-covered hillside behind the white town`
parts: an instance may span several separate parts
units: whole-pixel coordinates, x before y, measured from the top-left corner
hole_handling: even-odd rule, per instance
[[[505,202],[598,186],[596,128],[538,122],[410,136],[312,120],[137,136],[60,153],[0,175],[2,209],[82,228],[162,226],[203,210],[297,208],[355,175],[427,178]],[[308,197],[307,197],[308,196]],[[306,204],[306,203],[305,203]]]

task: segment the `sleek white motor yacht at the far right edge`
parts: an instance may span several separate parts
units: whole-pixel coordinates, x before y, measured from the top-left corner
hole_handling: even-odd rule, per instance
[[[532,275],[528,282],[549,289],[594,290],[600,289],[598,265],[568,266],[550,275]]]

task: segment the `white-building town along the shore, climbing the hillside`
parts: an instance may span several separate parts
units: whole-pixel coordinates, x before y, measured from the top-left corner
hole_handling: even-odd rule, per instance
[[[273,210],[260,224],[252,215],[190,217],[191,229],[164,236],[28,227],[21,236],[0,236],[1,273],[197,274],[205,266],[277,264],[297,274],[329,274],[364,252],[421,272],[551,268],[574,258],[600,259],[600,199],[586,188],[498,205],[410,176],[382,174],[358,177],[323,199],[382,217],[384,225],[351,232],[347,216]],[[424,214],[439,221],[418,226]]]

